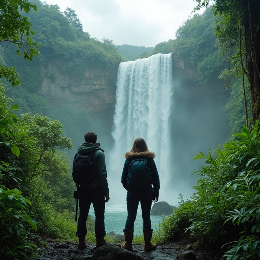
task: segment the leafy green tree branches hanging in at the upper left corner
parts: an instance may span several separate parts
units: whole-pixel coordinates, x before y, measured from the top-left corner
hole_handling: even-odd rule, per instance
[[[28,17],[22,15],[22,11],[28,13],[31,9],[37,11],[36,5],[27,0],[1,0],[0,1],[0,42],[15,44],[17,55],[24,59],[32,60],[37,55],[38,44],[30,38],[34,34]],[[13,67],[4,67],[0,64],[0,78],[6,78],[12,85],[19,85],[18,74]]]

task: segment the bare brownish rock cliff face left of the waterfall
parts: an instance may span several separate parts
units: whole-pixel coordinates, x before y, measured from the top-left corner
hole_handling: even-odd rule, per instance
[[[62,72],[64,64],[51,61],[40,68],[44,80],[39,90],[56,106],[70,103],[86,108],[92,115],[107,114],[114,110],[118,66],[89,66],[85,75],[76,77]]]

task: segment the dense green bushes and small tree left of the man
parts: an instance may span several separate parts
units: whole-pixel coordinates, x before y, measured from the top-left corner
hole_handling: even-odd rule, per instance
[[[41,115],[23,115],[20,120],[19,116],[12,113],[18,110],[18,106],[9,107],[11,100],[5,96],[4,88],[1,88],[0,100],[0,183],[12,188],[10,191],[12,194],[4,189],[2,191],[6,197],[4,197],[3,203],[0,199],[0,203],[2,203],[0,207],[1,227],[4,229],[13,224],[14,232],[11,228],[9,229],[11,234],[16,232],[17,225],[19,229],[16,233],[21,233],[21,237],[14,242],[13,233],[12,236],[4,236],[6,244],[3,244],[2,252],[7,253],[6,257],[10,256],[10,259],[16,257],[25,259],[26,254],[32,248],[36,248],[32,243],[31,239],[34,237],[31,236],[29,229],[29,224],[33,228],[35,228],[35,224],[28,214],[22,212],[21,203],[30,204],[30,201],[23,199],[20,190],[23,190],[31,199],[32,205],[26,211],[37,219],[37,234],[53,234],[56,239],[71,238],[75,240],[76,224],[73,216],[75,184],[71,178],[68,157],[63,152],[57,151],[57,149],[71,148],[72,143],[69,138],[64,136],[63,126],[57,120],[50,120]],[[34,175],[36,170],[38,174]],[[10,199],[10,202],[7,199]],[[9,204],[3,208],[2,205],[7,202]],[[14,203],[16,206],[12,206],[10,203]],[[18,209],[18,206],[21,210]],[[8,218],[8,212],[12,217]],[[28,225],[23,222],[28,222]],[[12,253],[9,252],[10,250]],[[22,255],[16,256],[19,254]]]

